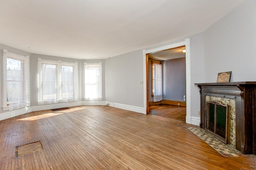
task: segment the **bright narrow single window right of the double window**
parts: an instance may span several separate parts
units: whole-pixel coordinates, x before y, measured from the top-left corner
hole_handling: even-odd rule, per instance
[[[102,100],[102,63],[84,63],[84,99]]]

